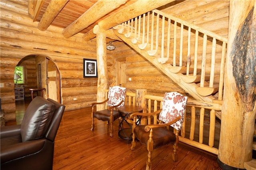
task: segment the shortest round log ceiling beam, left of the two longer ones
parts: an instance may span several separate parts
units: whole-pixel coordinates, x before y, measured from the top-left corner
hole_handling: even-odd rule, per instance
[[[38,24],[38,29],[45,31],[68,1],[69,0],[51,0]]]

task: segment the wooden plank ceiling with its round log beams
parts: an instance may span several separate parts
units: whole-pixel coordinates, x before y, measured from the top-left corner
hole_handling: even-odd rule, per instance
[[[33,21],[39,22],[38,29],[41,31],[53,25],[63,28],[62,34],[66,38],[84,33],[83,38],[88,35],[84,38],[88,40],[93,38],[93,28],[99,23],[104,30],[108,30],[172,1],[174,0],[29,0],[28,14]]]

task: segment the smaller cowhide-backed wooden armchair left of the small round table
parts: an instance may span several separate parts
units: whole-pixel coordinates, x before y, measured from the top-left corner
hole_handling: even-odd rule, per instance
[[[103,102],[92,103],[92,129],[94,130],[94,117],[98,120],[108,121],[109,136],[113,137],[113,122],[118,119],[119,112],[116,107],[124,106],[126,96],[126,88],[120,86],[110,87],[108,90],[108,98]],[[94,106],[97,104],[104,104],[107,102],[107,108],[100,111],[94,111]]]

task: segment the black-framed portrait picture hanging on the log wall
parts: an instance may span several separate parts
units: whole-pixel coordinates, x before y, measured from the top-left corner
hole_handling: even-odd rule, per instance
[[[84,78],[98,77],[97,60],[84,59]]]

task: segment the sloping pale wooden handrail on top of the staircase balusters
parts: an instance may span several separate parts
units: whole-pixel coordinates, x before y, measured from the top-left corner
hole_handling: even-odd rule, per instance
[[[162,11],[159,11],[159,10],[152,10],[152,11],[153,11],[154,13],[156,13],[156,14],[161,15],[161,16],[170,18],[171,20],[174,20],[174,21],[176,21],[176,22],[178,22],[178,23],[182,23],[183,25],[186,25],[186,26],[188,26],[188,27],[190,27],[190,28],[192,28],[192,29],[198,30],[198,31],[201,32],[201,33],[204,33],[204,34],[206,34],[206,35],[209,35],[210,37],[214,37],[214,38],[216,38],[216,39],[218,39],[218,40],[221,40],[221,41],[223,41],[223,42],[225,42],[225,43],[228,43],[228,39],[227,39],[227,38],[225,38],[225,37],[223,37],[223,36],[221,36],[221,35],[218,35],[218,34],[212,32],[212,31],[208,31],[208,30],[203,29],[203,28],[201,28],[201,27],[199,27],[199,26],[197,26],[197,25],[193,25],[193,24],[191,24],[191,23],[189,23],[189,22],[187,22],[187,21],[183,21],[183,20],[181,20],[181,19],[179,19],[179,18],[176,18],[176,17],[174,17],[174,16],[172,16],[172,15],[170,15],[170,14],[166,14],[166,13],[164,13],[164,12],[162,12]]]

